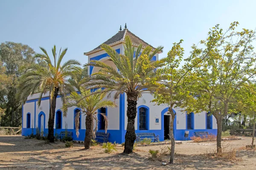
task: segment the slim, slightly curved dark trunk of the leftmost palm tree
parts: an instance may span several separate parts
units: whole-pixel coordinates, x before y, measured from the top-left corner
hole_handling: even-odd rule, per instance
[[[47,140],[49,142],[54,142],[54,119],[55,119],[55,109],[56,109],[56,100],[58,96],[58,89],[55,90],[55,95],[50,100],[50,111],[49,111],[49,120],[48,120],[48,136]]]

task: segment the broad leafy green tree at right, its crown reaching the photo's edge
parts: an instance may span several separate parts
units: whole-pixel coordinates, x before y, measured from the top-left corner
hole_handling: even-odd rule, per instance
[[[229,113],[229,106],[234,102],[234,95],[245,82],[251,81],[255,74],[256,57],[252,42],[255,32],[248,29],[234,31],[238,22],[233,22],[227,31],[216,25],[209,31],[207,40],[202,41],[203,51],[193,45],[189,62],[193,65],[202,60],[193,68],[197,75],[194,96],[197,102],[189,107],[194,111],[209,111],[217,120],[217,152],[221,153],[222,120]],[[215,44],[212,44],[214,40]]]

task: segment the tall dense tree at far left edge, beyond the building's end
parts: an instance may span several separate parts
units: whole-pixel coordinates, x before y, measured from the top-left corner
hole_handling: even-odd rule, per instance
[[[0,78],[0,107],[2,111],[4,110],[1,116],[3,126],[17,127],[21,124],[21,100],[15,97],[18,79],[22,74],[19,68],[22,65],[35,63],[34,54],[34,50],[28,45],[15,42],[0,44],[1,75],[3,76]],[[4,78],[6,76],[8,79]]]

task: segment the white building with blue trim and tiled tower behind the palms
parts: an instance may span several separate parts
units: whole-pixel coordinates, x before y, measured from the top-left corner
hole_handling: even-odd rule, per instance
[[[149,45],[147,42],[141,40],[135,34],[131,33],[127,28],[120,30],[117,34],[107,40],[106,44],[111,45],[118,53],[124,54],[124,40],[125,36],[129,36],[134,46],[143,44],[143,46]],[[154,47],[152,47],[154,50]],[[100,48],[100,46],[93,50],[84,53],[88,56],[88,62],[91,60],[99,60],[111,65],[116,69],[114,63],[108,58],[108,54]],[[157,60],[159,54],[153,57],[153,60]],[[99,68],[90,66],[88,68],[88,74],[93,74],[99,71]],[[22,107],[22,135],[27,136],[33,132],[35,133],[35,127],[39,127],[40,131],[47,134],[48,131],[48,119],[49,119],[49,94],[43,96],[41,105],[38,107],[39,94],[33,94],[27,98],[26,103]],[[151,102],[153,96],[151,94],[143,94],[143,96],[137,102],[137,117],[135,119],[136,132],[154,132],[160,136],[160,141],[168,139],[169,127],[171,115],[168,114],[168,106],[155,105]],[[113,99],[112,99],[113,100]],[[108,133],[110,133],[110,142],[125,142],[125,132],[127,126],[127,102],[126,95],[120,95],[118,100],[115,100],[116,108],[102,108],[99,112],[105,112],[108,117]],[[73,132],[73,139],[83,141],[85,137],[85,116],[80,117],[79,137],[76,137],[74,115],[80,108],[72,107],[68,108],[67,117],[63,117],[61,111],[61,98],[58,96],[56,102],[55,113],[55,133],[60,133],[67,127],[68,131]],[[207,116],[206,112],[202,113],[190,113],[182,111],[183,109],[174,108],[176,112],[174,123],[174,136],[176,140],[184,140],[185,130],[189,131],[189,137],[194,135],[196,131],[207,131],[208,133],[217,134],[217,122],[214,116]],[[98,131],[104,132],[105,122],[99,114],[99,126]]]

